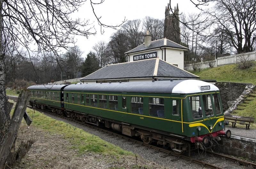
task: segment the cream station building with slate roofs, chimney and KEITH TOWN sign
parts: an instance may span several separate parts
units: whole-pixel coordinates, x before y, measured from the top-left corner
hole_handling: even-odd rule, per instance
[[[166,38],[144,43],[127,51],[128,62],[107,65],[80,79],[83,83],[126,81],[159,81],[170,79],[199,79],[184,70],[184,50],[188,48]]]

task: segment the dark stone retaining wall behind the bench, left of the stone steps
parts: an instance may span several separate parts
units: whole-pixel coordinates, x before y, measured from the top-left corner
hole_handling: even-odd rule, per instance
[[[220,89],[220,97],[224,110],[232,106],[233,102],[242,95],[248,83],[216,82],[215,86]]]

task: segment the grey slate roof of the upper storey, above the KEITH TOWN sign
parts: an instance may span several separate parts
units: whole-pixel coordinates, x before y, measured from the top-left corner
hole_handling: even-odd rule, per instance
[[[164,45],[164,39],[159,39],[156,41],[152,41],[148,47],[145,47],[145,45],[143,43],[140,46],[137,46],[136,48],[134,48],[128,52],[125,52],[124,54],[129,54],[129,53],[134,53],[134,52],[149,50],[149,49],[155,49],[155,48],[160,48],[160,47],[172,47],[172,48],[186,49],[186,50],[188,49],[187,47],[179,45],[178,43],[172,42],[169,39],[166,39],[166,45]]]

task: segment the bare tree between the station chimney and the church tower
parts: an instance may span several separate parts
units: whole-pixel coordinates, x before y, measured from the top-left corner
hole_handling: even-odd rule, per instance
[[[146,16],[142,25],[143,32],[148,30],[152,41],[164,38],[164,20]]]

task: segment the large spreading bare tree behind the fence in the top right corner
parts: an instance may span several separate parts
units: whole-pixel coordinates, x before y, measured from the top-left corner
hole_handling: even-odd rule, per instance
[[[256,3],[254,0],[216,0],[209,16],[209,29],[221,27],[237,53],[250,52],[256,41]],[[211,34],[215,36],[213,32]]]

